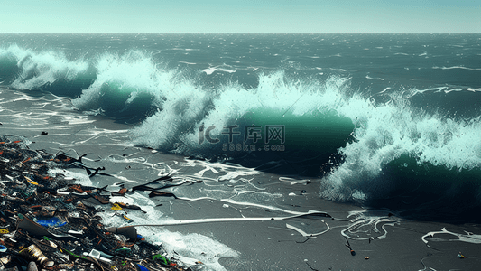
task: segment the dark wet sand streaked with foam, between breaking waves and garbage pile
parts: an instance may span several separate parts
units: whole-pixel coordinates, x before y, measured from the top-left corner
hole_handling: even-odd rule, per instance
[[[3,93],[5,94],[5,93]],[[3,95],[2,94],[2,95]],[[125,145],[128,135],[125,130],[130,126],[115,123],[103,117],[84,117],[74,111],[55,107],[59,115],[41,119],[42,110],[36,109],[34,103],[39,101],[17,100],[2,104],[0,111],[0,134],[22,135],[31,140],[32,149],[45,149],[50,153],[59,150],[69,152],[75,149],[79,154],[88,154],[85,163],[91,166],[105,166],[105,173],[118,173],[128,180],[139,183],[149,182],[157,178],[158,168],[149,168],[144,164],[106,164],[106,161],[95,160],[116,154],[133,154],[133,157],[143,157],[148,163],[164,163],[175,167],[183,161],[183,157],[173,154],[162,154],[145,148]],[[15,103],[17,103],[15,105]],[[8,108],[11,109],[8,109]],[[24,107],[22,116],[14,108]],[[49,107],[49,106],[47,106]],[[5,109],[6,108],[6,109]],[[29,118],[28,113],[32,118]],[[38,115],[35,115],[37,113]],[[68,119],[65,116],[70,116]],[[38,121],[32,121],[39,117]],[[29,121],[23,122],[22,119]],[[41,135],[42,131],[48,135]],[[92,132],[97,131],[97,135]],[[70,151],[71,152],[71,151]],[[100,163],[100,164],[99,164]],[[130,168],[127,168],[131,166]],[[162,165],[158,165],[161,167]],[[192,174],[199,169],[192,168]],[[183,172],[183,174],[189,174]],[[116,180],[115,182],[118,182]],[[322,210],[334,218],[346,220],[348,212],[363,210],[360,207],[339,204],[319,199],[319,182],[312,180],[309,184],[294,184],[279,182],[279,176],[262,173],[255,176],[259,187],[268,192],[277,192],[283,196],[275,202],[277,207],[286,210]],[[113,182],[111,177],[97,175],[92,178],[94,185]],[[228,184],[228,183],[226,183]],[[198,184],[190,189],[197,190]],[[305,190],[301,194],[301,190]],[[176,190],[173,189],[172,192]],[[185,191],[184,191],[185,192]],[[293,192],[295,195],[290,196]],[[281,212],[269,211],[258,207],[245,207],[234,203],[217,200],[185,201],[173,198],[156,198],[163,203],[157,207],[165,216],[175,220],[230,218],[230,217],[273,217],[282,216]],[[272,203],[272,202],[271,202]],[[285,215],[285,214],[284,214]],[[387,212],[384,212],[387,217]],[[169,226],[171,231],[181,233],[199,233],[214,238],[227,247],[236,250],[239,257],[222,258],[220,263],[227,270],[477,270],[481,266],[481,244],[472,244],[457,240],[457,237],[447,234],[435,235],[430,238],[428,247],[421,239],[430,231],[446,228],[451,232],[466,234],[481,234],[478,224],[452,225],[439,222],[420,222],[392,218],[398,223],[395,226],[385,226],[387,235],[384,239],[368,240],[350,239],[351,248],[356,252],[352,256],[347,248],[346,239],[341,230],[352,222],[318,218],[317,220],[298,220],[312,225],[325,225],[330,230],[314,238],[307,238],[292,229],[286,228],[288,220],[237,221],[201,223],[191,225]],[[373,237],[381,236],[384,231],[372,231]],[[371,229],[373,230],[373,229]],[[458,258],[461,252],[466,258]],[[368,259],[366,259],[368,258]]]

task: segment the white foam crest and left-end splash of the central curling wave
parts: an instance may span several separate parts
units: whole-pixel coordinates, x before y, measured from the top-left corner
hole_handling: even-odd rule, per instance
[[[347,79],[331,78],[326,83],[287,81],[283,72],[262,75],[257,89],[230,84],[208,94],[189,81],[176,84],[161,112],[147,118],[134,129],[134,142],[181,154],[203,153],[214,147],[199,145],[199,127],[216,126],[211,135],[220,135],[224,126],[254,108],[291,110],[302,115],[334,107],[341,98],[339,88]],[[326,89],[335,89],[326,91]],[[216,95],[216,96],[214,96]]]

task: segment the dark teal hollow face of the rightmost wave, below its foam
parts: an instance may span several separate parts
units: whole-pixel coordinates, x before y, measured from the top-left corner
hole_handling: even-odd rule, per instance
[[[402,154],[384,167],[391,189],[371,196],[364,204],[389,208],[412,220],[479,221],[481,168],[459,170],[442,164],[420,163]]]

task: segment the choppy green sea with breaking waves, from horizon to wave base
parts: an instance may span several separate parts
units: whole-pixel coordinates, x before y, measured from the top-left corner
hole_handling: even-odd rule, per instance
[[[213,172],[316,177],[322,199],[480,220],[480,34],[2,34],[0,81]]]

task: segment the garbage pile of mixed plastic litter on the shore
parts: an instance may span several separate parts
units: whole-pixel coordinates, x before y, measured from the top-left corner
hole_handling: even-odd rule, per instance
[[[98,205],[141,210],[109,201],[127,189],[108,192],[52,176],[54,168],[82,167],[90,175],[102,170],[88,168],[82,156],[34,151],[22,138],[0,136],[0,270],[191,270],[132,226],[104,227]]]

